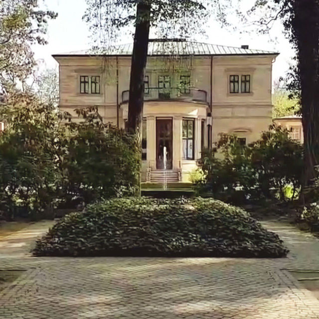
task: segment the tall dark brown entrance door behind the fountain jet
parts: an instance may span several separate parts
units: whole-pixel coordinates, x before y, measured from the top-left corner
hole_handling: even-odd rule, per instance
[[[166,147],[167,169],[172,169],[172,119],[156,119],[156,168],[164,169],[163,152]]]

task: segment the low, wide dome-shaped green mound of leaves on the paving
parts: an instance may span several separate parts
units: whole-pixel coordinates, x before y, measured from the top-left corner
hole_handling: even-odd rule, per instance
[[[197,198],[106,200],[71,213],[36,242],[35,256],[284,257],[246,211]]]

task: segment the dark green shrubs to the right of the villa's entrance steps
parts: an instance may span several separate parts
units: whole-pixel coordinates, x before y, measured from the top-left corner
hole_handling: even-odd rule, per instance
[[[235,136],[222,135],[215,150],[203,153],[200,164],[205,181],[199,186],[217,198],[288,200],[300,189],[303,148],[288,130],[272,125],[249,146],[240,145]]]

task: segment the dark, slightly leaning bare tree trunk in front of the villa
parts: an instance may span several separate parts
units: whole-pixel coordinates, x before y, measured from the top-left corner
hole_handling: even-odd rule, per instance
[[[129,116],[127,130],[141,135],[144,104],[144,75],[148,56],[151,5],[137,5],[137,19],[131,66]]]

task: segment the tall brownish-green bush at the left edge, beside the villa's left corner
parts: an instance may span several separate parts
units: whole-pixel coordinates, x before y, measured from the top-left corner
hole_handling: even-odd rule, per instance
[[[0,210],[12,217],[50,210],[60,173],[55,169],[57,114],[28,93],[13,91],[2,106]],[[20,207],[20,208],[19,208]]]

